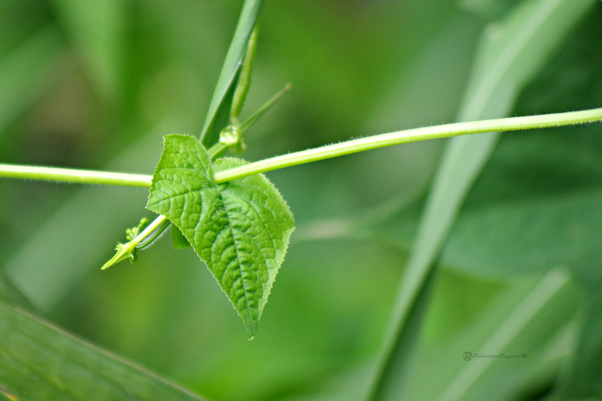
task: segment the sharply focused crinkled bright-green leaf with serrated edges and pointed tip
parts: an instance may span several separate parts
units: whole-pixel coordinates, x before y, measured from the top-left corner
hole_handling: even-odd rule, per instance
[[[173,222],[255,335],[267,296],[294,229],[293,215],[262,174],[216,185],[213,173],[246,164],[219,159],[214,167],[192,136],[165,136],[147,209]]]

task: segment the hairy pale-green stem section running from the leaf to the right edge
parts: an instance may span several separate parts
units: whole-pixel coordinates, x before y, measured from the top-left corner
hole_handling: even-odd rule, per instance
[[[382,133],[380,135],[367,136],[366,138],[303,150],[302,152],[289,153],[288,155],[277,156],[220,171],[215,174],[215,180],[216,183],[222,183],[278,168],[335,158],[337,156],[349,155],[350,153],[406,142],[447,138],[449,136],[466,135],[468,133],[559,127],[571,124],[594,123],[600,120],[602,120],[602,108],[557,114],[529,115],[527,117],[498,118],[497,120],[471,121],[469,123],[444,124]]]

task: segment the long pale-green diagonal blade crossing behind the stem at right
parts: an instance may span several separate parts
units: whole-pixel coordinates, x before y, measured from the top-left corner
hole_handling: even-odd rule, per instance
[[[483,31],[459,121],[506,116],[521,88],[539,71],[569,29],[595,4],[593,0],[527,0],[498,23]],[[498,133],[453,138],[436,174],[418,230],[414,252],[400,284],[393,320],[381,356],[382,372],[373,387],[392,394],[381,381],[394,361],[389,360],[423,282],[433,268],[441,246],[474,180],[482,170]],[[389,382],[390,383],[390,382]],[[392,395],[391,399],[395,396]],[[389,399],[389,398],[386,398]]]

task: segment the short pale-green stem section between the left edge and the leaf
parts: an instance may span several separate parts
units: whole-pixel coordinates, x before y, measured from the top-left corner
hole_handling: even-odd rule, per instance
[[[141,174],[13,164],[0,164],[0,177],[144,187],[151,186],[152,180],[152,176],[143,176]]]

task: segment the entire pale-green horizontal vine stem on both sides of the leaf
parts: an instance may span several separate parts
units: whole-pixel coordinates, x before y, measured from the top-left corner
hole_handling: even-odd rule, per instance
[[[448,138],[479,132],[512,131],[545,127],[559,127],[573,124],[586,124],[602,121],[602,108],[571,111],[556,114],[529,115],[526,117],[498,118],[496,120],[471,121],[432,127],[421,127],[403,131],[382,133],[353,139],[338,144],[326,145],[302,152],[276,156],[241,167],[231,168],[215,174],[216,183],[252,176],[265,171],[277,170],[298,164],[349,155],[379,147],[424,141],[426,139]],[[151,186],[151,176],[138,174],[107,173],[104,171],[70,170],[65,168],[31,167],[0,164],[0,177],[13,177],[37,180],[57,180],[91,184],[112,184],[128,186]]]

